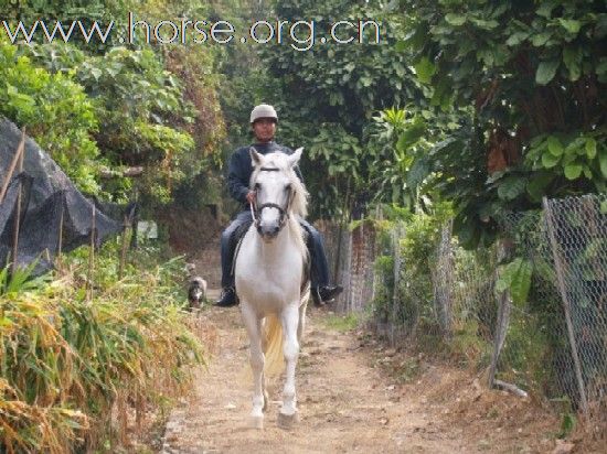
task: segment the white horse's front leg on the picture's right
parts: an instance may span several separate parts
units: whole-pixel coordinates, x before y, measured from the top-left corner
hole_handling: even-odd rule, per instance
[[[297,397],[295,392],[295,368],[299,357],[297,326],[299,324],[299,301],[289,304],[281,314],[283,333],[285,336],[284,355],[287,364],[285,388],[283,389],[283,407],[278,414],[278,423],[290,426],[297,421]]]

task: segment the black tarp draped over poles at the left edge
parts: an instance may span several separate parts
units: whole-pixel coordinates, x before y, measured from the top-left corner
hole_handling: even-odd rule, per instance
[[[21,131],[17,126],[0,117],[0,184],[8,175],[20,141]],[[12,261],[9,256],[13,246],[20,182],[22,202],[17,262],[22,267],[40,258],[34,270],[35,274],[40,274],[52,267],[60,246],[60,231],[63,233],[62,251],[70,251],[90,241],[95,205],[32,139],[25,138],[23,172],[17,174],[15,171],[0,204],[0,268],[7,261]],[[96,207],[97,246],[121,229],[121,220],[114,220]]]

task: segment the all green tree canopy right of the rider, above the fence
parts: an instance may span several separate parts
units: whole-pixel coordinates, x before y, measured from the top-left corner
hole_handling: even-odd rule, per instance
[[[317,215],[446,199],[473,246],[503,209],[607,190],[601,2],[303,0],[276,13],[320,30],[381,23],[375,45],[262,51],[285,134],[309,143]]]

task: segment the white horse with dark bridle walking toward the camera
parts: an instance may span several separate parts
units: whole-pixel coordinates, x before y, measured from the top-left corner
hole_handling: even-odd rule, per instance
[[[251,149],[253,224],[245,234],[235,263],[236,293],[251,340],[253,369],[252,423],[264,425],[268,396],[265,375],[281,369],[286,382],[278,424],[297,421],[295,368],[310,295],[307,277],[308,249],[297,216],[307,214],[308,193],[294,167],[302,148],[285,153],[259,154]]]

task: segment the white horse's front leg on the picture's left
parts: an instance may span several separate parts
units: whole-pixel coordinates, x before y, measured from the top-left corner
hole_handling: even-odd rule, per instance
[[[262,320],[246,302],[241,303],[243,321],[251,340],[249,361],[253,370],[253,409],[251,422],[256,429],[264,428],[264,352],[262,349]]]

